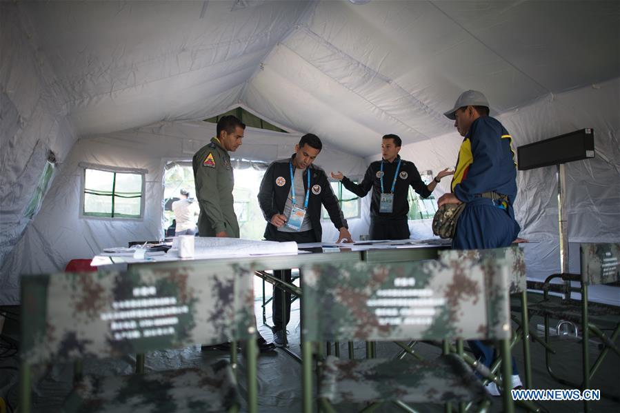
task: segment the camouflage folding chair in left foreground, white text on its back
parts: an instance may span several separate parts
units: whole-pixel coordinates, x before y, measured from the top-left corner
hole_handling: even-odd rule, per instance
[[[248,410],[257,411],[252,273],[231,265],[132,272],[58,273],[21,278],[20,412],[32,410],[30,366],[243,340]],[[232,351],[236,351],[232,345]],[[236,356],[236,354],[234,354]],[[85,376],[67,412],[237,412],[230,364]]]

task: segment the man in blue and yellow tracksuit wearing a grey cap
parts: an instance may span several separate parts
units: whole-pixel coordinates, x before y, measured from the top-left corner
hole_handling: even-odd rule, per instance
[[[437,202],[466,203],[452,239],[456,250],[508,247],[521,228],[514,220],[512,204],[517,197],[517,164],[512,137],[489,115],[489,103],[477,90],[463,92],[454,108],[445,113],[463,139],[452,178],[452,192]],[[487,367],[493,350],[481,341],[469,341],[474,355]],[[512,385],[521,385],[512,359]],[[494,383],[489,392],[499,395]]]

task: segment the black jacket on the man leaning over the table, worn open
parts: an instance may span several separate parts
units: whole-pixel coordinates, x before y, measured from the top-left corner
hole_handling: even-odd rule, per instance
[[[272,162],[263,176],[263,181],[261,181],[261,190],[259,191],[258,198],[263,216],[265,216],[267,221],[265,238],[268,240],[275,239],[278,232],[278,228],[270,221],[274,214],[281,214],[284,211],[284,205],[290,193],[291,185],[290,168],[288,165],[294,156],[293,154],[289,159],[280,159],[279,161]],[[308,199],[308,211],[306,214],[308,214],[310,223],[312,223],[312,230],[317,237],[317,241],[321,241],[321,205],[325,205],[325,209],[337,229],[342,227],[348,228],[348,225],[325,171],[317,165],[310,164],[303,172],[304,190],[308,190],[308,172],[312,173],[312,175],[310,176],[310,199]]]

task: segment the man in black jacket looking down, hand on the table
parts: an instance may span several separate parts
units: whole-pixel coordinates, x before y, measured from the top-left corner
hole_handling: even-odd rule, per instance
[[[339,230],[338,241],[352,241],[346,219],[340,210],[327,174],[316,165],[323,145],[314,134],[305,134],[295,145],[295,153],[288,159],[274,161],[263,176],[259,191],[259,205],[267,221],[265,238],[268,241],[321,241],[321,205]],[[290,283],[290,270],[274,270],[274,276]],[[274,343],[285,345],[285,327],[290,319],[290,294],[274,289],[272,313]],[[282,321],[282,302],[286,300],[286,321]]]

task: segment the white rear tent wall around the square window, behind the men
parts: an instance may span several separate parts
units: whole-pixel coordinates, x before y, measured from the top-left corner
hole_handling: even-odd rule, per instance
[[[194,152],[215,135],[215,125],[205,122],[158,123],[146,128],[79,139],[66,162],[59,165],[41,212],[28,225],[14,250],[1,267],[0,303],[19,301],[19,274],[45,273],[64,268],[70,259],[90,258],[103,248],[125,246],[128,241],[161,238],[163,216],[163,170],[166,161],[191,159]],[[272,161],[290,157],[299,134],[246,129],[241,148],[233,157]],[[79,163],[146,169],[145,208],[141,220],[85,219],[80,215],[81,177]],[[327,172],[346,170],[362,175],[366,161],[327,145],[318,165]],[[364,230],[362,219],[350,220],[352,232]],[[335,229],[324,225],[326,240]],[[368,233],[368,230],[366,232]]]

